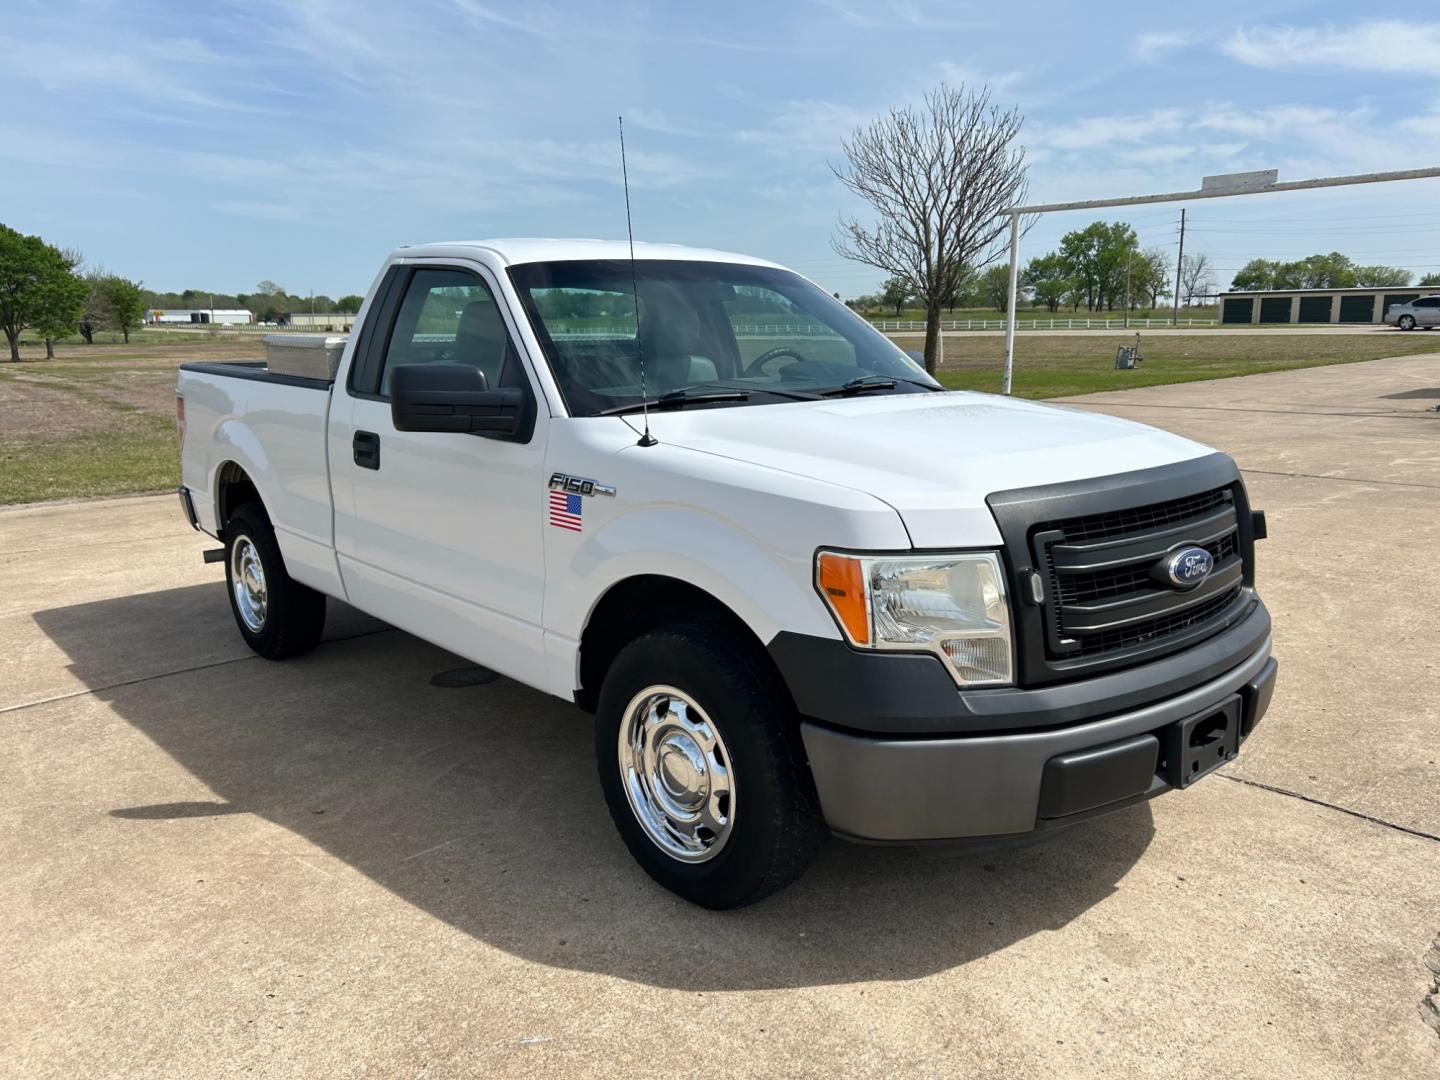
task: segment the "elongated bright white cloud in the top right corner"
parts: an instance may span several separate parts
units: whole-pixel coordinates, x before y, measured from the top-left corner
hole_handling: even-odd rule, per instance
[[[1352,26],[1240,27],[1221,52],[1251,68],[1372,71],[1440,75],[1440,24],[1416,7],[1405,22],[1377,19]]]

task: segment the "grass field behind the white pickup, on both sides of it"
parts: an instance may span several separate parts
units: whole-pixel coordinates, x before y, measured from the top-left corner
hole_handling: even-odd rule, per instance
[[[1063,397],[1440,351],[1440,334],[1142,336],[1139,370],[1115,370],[1116,346],[1133,340],[1120,331],[1021,336],[1015,393]],[[922,346],[919,336],[896,341]],[[1001,389],[1002,337],[952,336],[945,351],[942,383]],[[56,360],[27,348],[23,363],[0,363],[0,504],[173,490],[180,481],[176,367],[258,353],[255,338],[202,331],[177,340],[164,331],[132,334],[130,346],[65,344]]]

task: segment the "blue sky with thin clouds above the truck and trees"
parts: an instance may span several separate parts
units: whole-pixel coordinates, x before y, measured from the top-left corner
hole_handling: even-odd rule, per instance
[[[1166,10],[1169,9],[1169,10]],[[1365,12],[1369,14],[1365,14]],[[0,222],[160,289],[363,292],[400,243],[625,232],[746,251],[841,295],[857,124],[927,86],[1018,107],[1034,200],[1440,166],[1423,4],[6,0]],[[1112,212],[1174,251],[1178,206]],[[1440,269],[1440,180],[1189,204],[1228,272],[1339,249]],[[1024,253],[1096,215],[1056,215]]]

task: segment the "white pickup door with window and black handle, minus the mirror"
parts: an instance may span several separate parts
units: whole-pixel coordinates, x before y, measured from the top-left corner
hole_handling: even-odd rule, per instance
[[[547,418],[513,318],[481,266],[423,262],[397,275],[357,346],[354,380],[336,389],[328,448],[346,590],[377,618],[543,684]],[[516,436],[396,431],[390,377],[423,363],[474,364],[490,386],[521,387],[528,423]]]

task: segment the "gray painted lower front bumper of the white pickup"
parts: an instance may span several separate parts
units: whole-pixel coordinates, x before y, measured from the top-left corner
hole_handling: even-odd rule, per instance
[[[825,821],[837,832],[874,841],[955,840],[1030,832],[1041,825],[1045,763],[1195,716],[1247,693],[1246,732],[1269,703],[1270,638],[1223,675],[1151,706],[1048,732],[948,739],[887,739],[815,723],[801,726]],[[1261,693],[1254,690],[1264,680]],[[1156,783],[1116,805],[1166,791]]]

